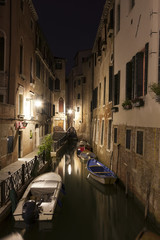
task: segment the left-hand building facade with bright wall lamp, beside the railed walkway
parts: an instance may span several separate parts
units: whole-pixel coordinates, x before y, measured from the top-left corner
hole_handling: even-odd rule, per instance
[[[31,0],[0,1],[1,168],[53,130],[55,59],[37,20]]]

